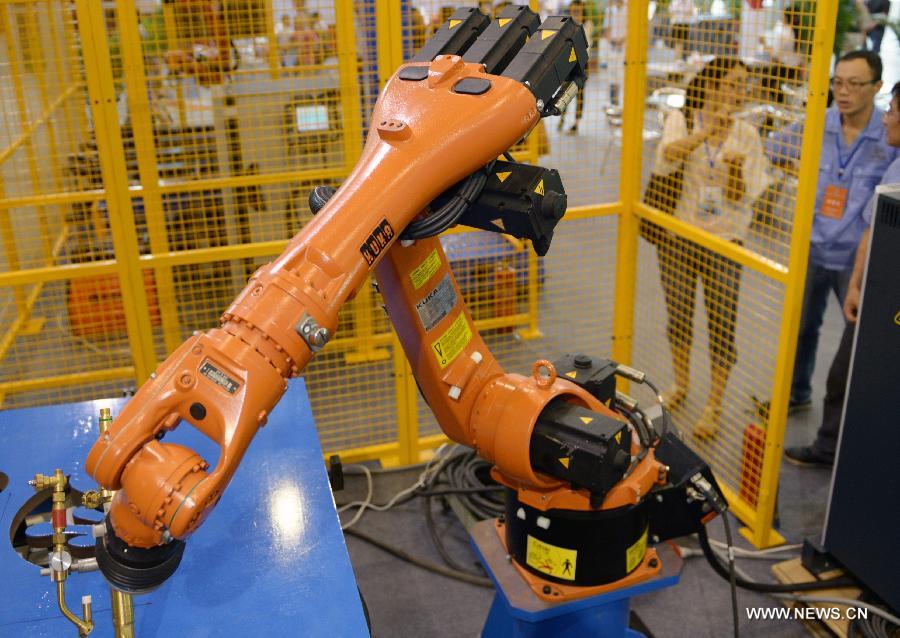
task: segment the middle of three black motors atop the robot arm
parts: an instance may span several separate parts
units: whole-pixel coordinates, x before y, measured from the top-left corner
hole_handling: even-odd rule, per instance
[[[541,24],[541,19],[525,5],[507,5],[497,19],[478,36],[463,60],[481,63],[487,73],[498,74]]]

